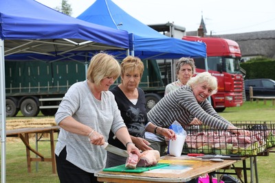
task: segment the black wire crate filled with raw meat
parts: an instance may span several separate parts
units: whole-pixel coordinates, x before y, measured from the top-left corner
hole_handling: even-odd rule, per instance
[[[191,125],[183,154],[222,154],[256,156],[275,145],[273,121],[232,121],[241,129],[250,130],[248,136],[238,136],[206,125]]]

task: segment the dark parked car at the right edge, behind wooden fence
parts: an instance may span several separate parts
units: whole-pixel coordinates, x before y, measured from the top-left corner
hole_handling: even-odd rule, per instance
[[[275,97],[275,81],[270,79],[245,80],[246,100],[250,100],[250,86],[253,87],[253,96]]]

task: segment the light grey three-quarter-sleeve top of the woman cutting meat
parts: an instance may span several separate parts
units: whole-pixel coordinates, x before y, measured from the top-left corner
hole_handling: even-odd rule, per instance
[[[69,88],[56,112],[56,123],[69,116],[102,134],[105,141],[108,141],[110,130],[115,134],[120,127],[126,126],[113,93],[104,91],[101,100],[98,100],[91,93],[87,81],[78,82]],[[55,154],[59,156],[64,147],[67,150],[66,159],[84,171],[95,173],[105,167],[107,151],[99,145],[92,145],[87,136],[61,128]]]

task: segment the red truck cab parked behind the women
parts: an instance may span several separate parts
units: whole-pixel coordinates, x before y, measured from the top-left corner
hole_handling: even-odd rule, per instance
[[[225,38],[184,36],[183,40],[206,43],[207,66],[204,58],[195,58],[196,73],[208,71],[218,79],[218,92],[211,96],[217,112],[243,105],[241,49],[237,42]]]

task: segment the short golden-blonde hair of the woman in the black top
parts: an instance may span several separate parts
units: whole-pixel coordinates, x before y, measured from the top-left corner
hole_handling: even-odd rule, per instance
[[[127,56],[124,58],[120,64],[121,75],[124,75],[126,71],[129,73],[133,73],[134,71],[138,71],[140,73],[140,77],[142,77],[144,71],[144,64],[140,58]]]

